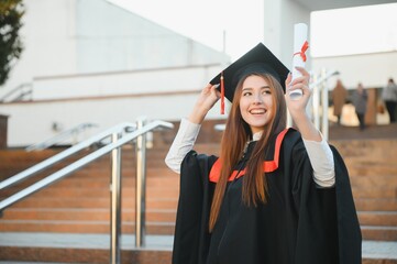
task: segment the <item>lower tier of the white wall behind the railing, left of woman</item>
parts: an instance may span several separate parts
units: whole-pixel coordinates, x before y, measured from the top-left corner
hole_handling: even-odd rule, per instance
[[[92,122],[99,125],[86,134],[92,135],[121,122],[135,122],[139,117],[177,121],[189,114],[200,89],[201,87],[183,95],[5,103],[0,107],[0,111],[10,116],[8,145],[26,146],[54,136],[56,133],[52,130],[53,122],[64,130]],[[209,112],[208,119],[221,118],[224,116],[220,116],[220,107],[217,105]]]

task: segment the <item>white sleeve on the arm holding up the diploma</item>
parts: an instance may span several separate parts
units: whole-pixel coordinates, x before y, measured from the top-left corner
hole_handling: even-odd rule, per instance
[[[335,184],[335,167],[331,147],[323,138],[321,142],[304,139],[304,144],[313,168],[315,183],[320,187],[332,187]]]

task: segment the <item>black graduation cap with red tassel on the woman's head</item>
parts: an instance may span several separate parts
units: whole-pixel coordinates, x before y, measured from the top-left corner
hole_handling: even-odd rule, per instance
[[[253,73],[271,74],[280,82],[285,92],[285,80],[289,69],[264,44],[260,43],[210,81],[211,85],[220,84],[222,114],[224,113],[224,97],[232,102],[240,79]]]

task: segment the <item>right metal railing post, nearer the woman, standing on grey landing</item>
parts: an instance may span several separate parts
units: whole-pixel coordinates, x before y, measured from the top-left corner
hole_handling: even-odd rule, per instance
[[[140,130],[145,118],[136,121]],[[146,133],[136,138],[136,197],[135,197],[135,246],[145,245],[145,193],[146,193]]]

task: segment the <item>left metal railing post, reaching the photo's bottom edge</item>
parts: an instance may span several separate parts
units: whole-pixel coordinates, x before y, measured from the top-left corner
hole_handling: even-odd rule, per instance
[[[112,143],[120,139],[120,133],[112,134]],[[121,263],[120,238],[121,238],[121,146],[111,152],[112,178],[110,183],[110,264]]]

